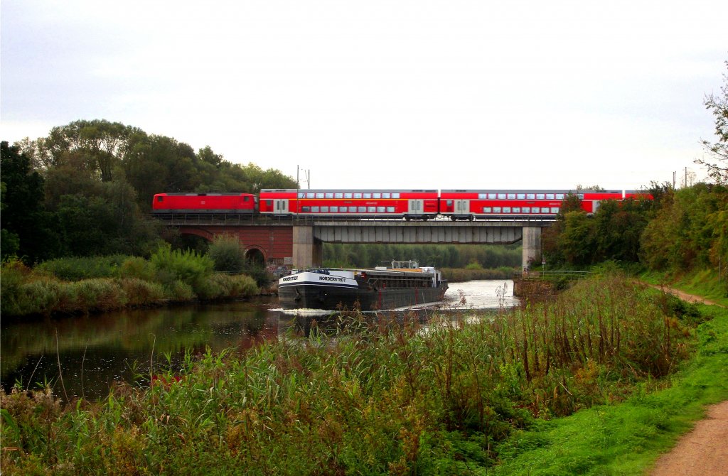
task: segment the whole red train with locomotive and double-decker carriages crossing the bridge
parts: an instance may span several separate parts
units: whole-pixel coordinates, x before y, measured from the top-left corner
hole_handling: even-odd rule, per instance
[[[157,194],[156,215],[182,213],[317,218],[404,218],[451,220],[553,218],[568,194],[577,194],[587,213],[607,199],[652,198],[638,191],[580,190],[373,190],[263,189],[253,194]]]

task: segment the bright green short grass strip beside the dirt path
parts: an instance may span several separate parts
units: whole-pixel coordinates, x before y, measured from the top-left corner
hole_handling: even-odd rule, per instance
[[[652,467],[704,415],[706,405],[728,399],[728,310],[700,309],[713,319],[698,328],[698,354],[669,388],[519,432],[490,474],[640,475]]]

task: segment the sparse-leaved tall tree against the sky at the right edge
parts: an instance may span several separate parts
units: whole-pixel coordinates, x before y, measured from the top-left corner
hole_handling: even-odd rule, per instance
[[[728,61],[725,62],[728,67]],[[708,167],[708,175],[716,183],[728,185],[728,75],[723,75],[724,84],[719,95],[705,97],[705,108],[710,110],[716,120],[718,140],[702,140],[703,147],[711,159],[696,159],[696,164]]]

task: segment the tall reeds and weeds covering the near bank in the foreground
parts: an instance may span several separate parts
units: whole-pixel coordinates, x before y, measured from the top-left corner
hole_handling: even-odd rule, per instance
[[[697,345],[665,309],[596,277],[475,320],[355,315],[332,336],[188,356],[100,403],[15,389],[0,462],[8,474],[489,474],[540,421],[664,385]]]

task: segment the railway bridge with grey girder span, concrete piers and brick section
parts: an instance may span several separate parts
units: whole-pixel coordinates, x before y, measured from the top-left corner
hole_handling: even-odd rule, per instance
[[[181,234],[212,241],[232,235],[247,258],[295,268],[321,266],[324,242],[422,245],[510,245],[523,240],[523,269],[541,261],[541,230],[550,221],[299,220],[240,215],[160,218]]]

